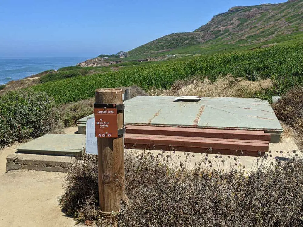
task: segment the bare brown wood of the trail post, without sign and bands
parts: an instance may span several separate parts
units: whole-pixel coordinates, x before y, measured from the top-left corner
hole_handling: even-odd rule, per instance
[[[96,89],[96,103],[122,104],[121,89]],[[117,114],[118,129],[124,127],[124,110]],[[97,138],[99,202],[102,212],[117,212],[124,193],[124,140]]]

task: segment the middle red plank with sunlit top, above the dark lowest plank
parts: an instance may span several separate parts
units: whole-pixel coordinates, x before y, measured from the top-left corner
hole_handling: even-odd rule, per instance
[[[229,150],[250,150],[250,151],[268,151],[268,144],[265,143],[246,143],[246,142],[232,142],[232,141],[212,141],[212,140],[197,140],[194,138],[162,138],[156,135],[145,135],[145,137],[134,137],[125,134],[125,143],[131,144],[155,144],[166,146],[182,146],[182,147],[200,147],[214,149],[229,149]]]

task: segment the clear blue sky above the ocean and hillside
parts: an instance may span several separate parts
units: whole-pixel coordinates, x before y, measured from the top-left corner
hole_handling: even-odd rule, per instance
[[[193,31],[232,6],[285,1],[0,0],[0,56],[92,58]]]

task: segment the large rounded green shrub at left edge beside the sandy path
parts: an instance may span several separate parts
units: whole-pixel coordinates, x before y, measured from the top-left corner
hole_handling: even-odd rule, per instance
[[[0,97],[0,148],[16,141],[56,133],[61,120],[45,93],[11,91]]]

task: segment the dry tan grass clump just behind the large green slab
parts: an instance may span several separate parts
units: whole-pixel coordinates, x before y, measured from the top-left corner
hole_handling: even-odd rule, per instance
[[[177,81],[171,90],[150,90],[149,95],[161,96],[201,96],[201,97],[253,97],[256,93],[262,93],[266,88],[272,87],[270,79],[261,81],[248,81],[243,78],[235,79],[231,74],[219,77],[211,82],[207,78],[203,81]]]

